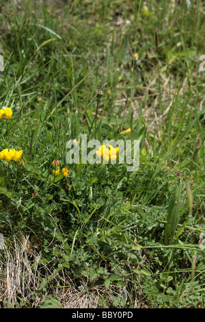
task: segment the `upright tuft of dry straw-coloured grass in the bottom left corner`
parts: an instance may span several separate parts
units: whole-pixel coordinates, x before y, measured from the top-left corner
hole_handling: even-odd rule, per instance
[[[13,245],[5,245],[1,250],[0,261],[0,299],[3,308],[20,306],[20,299],[29,303],[33,292],[38,290],[40,280],[38,280],[37,267],[33,265],[33,260],[29,257],[28,238],[21,240],[14,238]],[[40,254],[38,255],[40,257]],[[38,257],[35,258],[36,262]],[[40,297],[36,297],[34,305],[40,304]]]

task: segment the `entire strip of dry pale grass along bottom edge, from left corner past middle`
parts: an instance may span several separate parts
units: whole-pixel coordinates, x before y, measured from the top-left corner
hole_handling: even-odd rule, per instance
[[[140,288],[128,293],[127,288],[105,287],[103,281],[82,281],[81,288],[72,281],[69,269],[53,274],[51,263],[44,264],[39,249],[31,247],[29,236],[14,236],[12,243],[6,243],[0,253],[0,306],[1,308],[39,308],[43,304],[59,308],[110,308],[113,297],[126,299],[126,306],[147,307]],[[40,288],[44,277],[44,290]],[[134,294],[135,293],[135,294]],[[46,302],[49,295],[50,301]],[[48,305],[49,305],[48,304]]]

